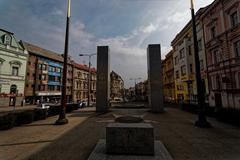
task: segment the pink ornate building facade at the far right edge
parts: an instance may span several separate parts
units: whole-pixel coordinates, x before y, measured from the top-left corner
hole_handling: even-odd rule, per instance
[[[240,1],[215,0],[201,16],[210,106],[240,108]]]

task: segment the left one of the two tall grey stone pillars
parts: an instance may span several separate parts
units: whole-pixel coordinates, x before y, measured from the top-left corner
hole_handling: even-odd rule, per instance
[[[109,105],[110,73],[109,73],[109,48],[97,47],[97,95],[96,111],[106,112]]]

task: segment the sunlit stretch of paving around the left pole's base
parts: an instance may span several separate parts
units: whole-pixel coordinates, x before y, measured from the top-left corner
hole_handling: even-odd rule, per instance
[[[58,116],[31,124],[14,127],[11,130],[0,131],[0,160],[24,160],[58,141],[58,138],[83,123],[90,115],[94,115],[94,108],[84,108],[67,114],[69,123],[62,126],[54,125]],[[73,115],[81,114],[81,117]]]

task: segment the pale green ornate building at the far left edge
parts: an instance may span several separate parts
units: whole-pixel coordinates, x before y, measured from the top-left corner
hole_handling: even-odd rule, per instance
[[[27,56],[14,34],[0,29],[0,106],[22,104]]]

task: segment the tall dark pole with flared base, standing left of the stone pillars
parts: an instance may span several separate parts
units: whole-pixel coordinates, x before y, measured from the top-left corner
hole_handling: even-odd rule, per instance
[[[59,111],[59,118],[55,122],[57,125],[67,124],[68,120],[66,118],[66,81],[67,81],[67,60],[68,60],[68,45],[69,45],[69,23],[70,23],[70,14],[71,14],[71,0],[68,0],[68,9],[67,9],[67,22],[66,22],[66,35],[65,35],[65,47],[64,47],[64,62],[63,62],[63,79],[62,79],[62,99],[61,106]]]

